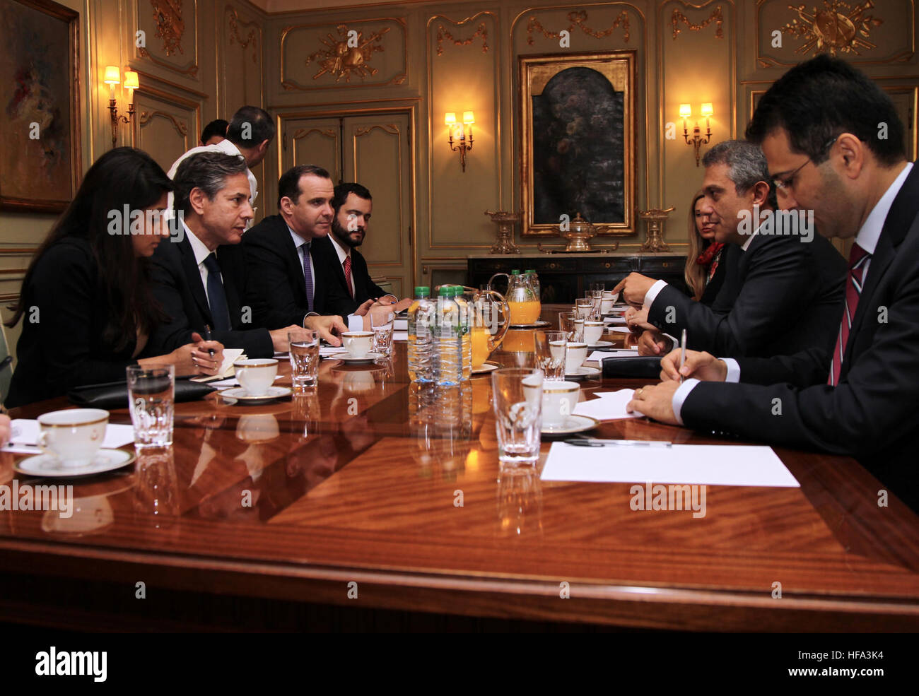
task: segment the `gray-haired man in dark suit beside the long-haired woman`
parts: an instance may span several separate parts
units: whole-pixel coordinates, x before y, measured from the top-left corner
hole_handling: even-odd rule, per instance
[[[170,320],[153,332],[151,344],[167,352],[210,326],[215,341],[249,357],[288,350],[287,331],[300,329],[303,318],[278,331],[255,328],[243,302],[246,266],[236,245],[253,215],[244,159],[200,152],[179,165],[174,183],[183,228],[172,243],[159,245],[152,264],[153,295]],[[312,318],[308,328],[335,344],[331,330],[345,329],[337,317]]]

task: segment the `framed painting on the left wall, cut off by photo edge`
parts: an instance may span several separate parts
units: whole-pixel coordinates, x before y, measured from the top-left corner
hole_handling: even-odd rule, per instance
[[[79,13],[0,0],[0,208],[60,212],[80,178]]]

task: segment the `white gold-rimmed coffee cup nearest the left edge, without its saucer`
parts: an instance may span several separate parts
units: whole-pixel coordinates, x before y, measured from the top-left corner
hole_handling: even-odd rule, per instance
[[[102,409],[52,410],[39,418],[39,446],[61,466],[86,466],[106,437],[108,411]]]

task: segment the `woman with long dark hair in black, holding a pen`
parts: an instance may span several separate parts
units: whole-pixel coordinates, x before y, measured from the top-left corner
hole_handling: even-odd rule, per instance
[[[133,148],[106,152],[89,168],[29,264],[6,323],[23,320],[7,406],[125,379],[128,365],[217,373],[223,346],[198,334],[170,354],[144,355],[153,327],[167,320],[150,290],[147,264],[169,238],[164,212],[172,188],[159,164]]]

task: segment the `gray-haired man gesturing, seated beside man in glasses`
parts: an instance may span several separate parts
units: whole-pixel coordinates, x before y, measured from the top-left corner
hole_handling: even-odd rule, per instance
[[[616,286],[632,307],[647,310],[639,325],[653,331],[653,352],[665,354],[683,330],[687,346],[719,355],[792,354],[829,341],[843,306],[843,257],[813,234],[812,216],[811,227],[807,217],[776,216],[759,147],[725,140],[703,163],[702,215],[715,225],[715,241],[738,247],[740,258],[710,308],[637,273]]]

